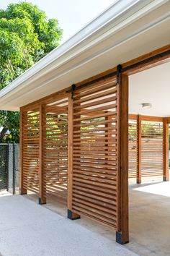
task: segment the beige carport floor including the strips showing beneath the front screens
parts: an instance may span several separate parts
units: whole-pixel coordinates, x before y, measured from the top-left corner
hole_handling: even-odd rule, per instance
[[[162,182],[161,176],[143,178],[143,184],[134,182],[129,182],[130,243],[123,247],[142,256],[170,255],[170,182]],[[27,197],[37,201],[35,195]],[[60,200],[50,200],[42,207],[66,218],[66,205]],[[115,242],[111,229],[84,217],[76,223]]]

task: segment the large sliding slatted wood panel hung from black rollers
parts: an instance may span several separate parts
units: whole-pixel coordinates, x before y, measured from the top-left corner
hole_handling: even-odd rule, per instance
[[[117,227],[117,84],[115,78],[73,95],[72,210]]]

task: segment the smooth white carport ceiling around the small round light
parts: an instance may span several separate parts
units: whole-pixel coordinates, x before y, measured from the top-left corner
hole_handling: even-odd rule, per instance
[[[131,75],[129,84],[130,114],[170,116],[170,62]]]

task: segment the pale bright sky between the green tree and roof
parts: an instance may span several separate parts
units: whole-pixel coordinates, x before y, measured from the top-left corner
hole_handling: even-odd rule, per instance
[[[20,0],[0,0],[0,9]],[[63,41],[84,27],[98,14],[117,0],[28,0],[46,12],[49,18],[58,19],[63,28]]]

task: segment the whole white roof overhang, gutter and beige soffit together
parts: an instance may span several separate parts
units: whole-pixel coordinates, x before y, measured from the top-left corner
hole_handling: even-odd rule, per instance
[[[170,1],[120,0],[0,92],[20,106],[170,43]]]

